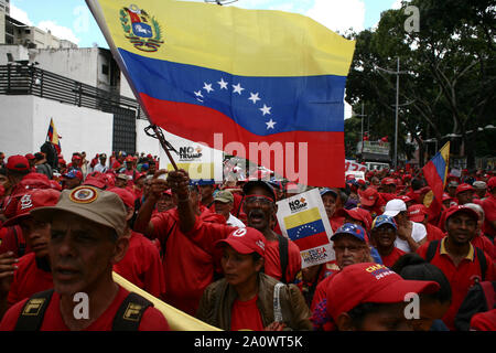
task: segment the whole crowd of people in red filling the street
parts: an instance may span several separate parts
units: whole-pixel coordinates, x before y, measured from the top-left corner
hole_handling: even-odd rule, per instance
[[[492,171],[448,175],[439,203],[420,169],[320,188],[335,259],[305,268],[276,216],[301,188],[259,176],[197,183],[144,153],[0,153],[0,330],[170,330],[112,271],[223,330],[496,330]],[[82,292],[90,315],[76,318]]]

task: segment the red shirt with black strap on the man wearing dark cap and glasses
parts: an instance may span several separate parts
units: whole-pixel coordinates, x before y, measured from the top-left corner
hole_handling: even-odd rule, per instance
[[[266,242],[265,274],[278,280],[282,278],[281,259],[279,257],[279,242]],[[296,244],[288,239],[288,268],[285,279],[288,282],[294,281],[301,270],[300,248]]]

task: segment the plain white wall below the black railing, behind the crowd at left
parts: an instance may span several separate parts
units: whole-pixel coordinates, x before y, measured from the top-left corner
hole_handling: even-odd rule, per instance
[[[85,151],[91,158],[111,152],[111,114],[34,96],[0,96],[0,151],[7,156],[39,151],[51,118],[62,136],[62,154],[67,161],[73,152]]]

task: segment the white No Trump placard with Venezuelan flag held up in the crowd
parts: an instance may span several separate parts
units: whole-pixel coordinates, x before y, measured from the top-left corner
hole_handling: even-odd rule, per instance
[[[279,201],[277,217],[282,234],[300,248],[302,268],[335,259],[333,229],[319,189]]]

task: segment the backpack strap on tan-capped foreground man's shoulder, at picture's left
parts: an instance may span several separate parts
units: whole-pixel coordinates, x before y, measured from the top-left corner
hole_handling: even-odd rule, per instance
[[[40,331],[53,291],[53,289],[45,290],[26,300],[21,309],[14,331]]]

